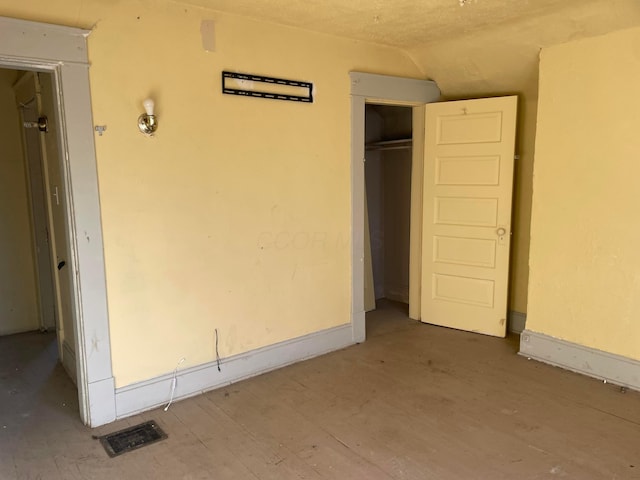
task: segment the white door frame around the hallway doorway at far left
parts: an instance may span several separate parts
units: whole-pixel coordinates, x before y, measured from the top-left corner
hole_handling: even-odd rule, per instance
[[[87,37],[72,27],[0,17],[0,68],[53,75],[73,269],[73,324],[80,417],[115,420],[115,383],[94,145]]]

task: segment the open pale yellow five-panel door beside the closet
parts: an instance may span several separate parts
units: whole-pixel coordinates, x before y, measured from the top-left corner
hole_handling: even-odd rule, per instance
[[[426,106],[423,322],[504,337],[517,97]]]

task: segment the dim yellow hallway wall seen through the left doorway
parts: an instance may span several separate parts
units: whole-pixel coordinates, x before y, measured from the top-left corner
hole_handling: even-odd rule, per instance
[[[40,326],[15,80],[0,70],[0,335]]]

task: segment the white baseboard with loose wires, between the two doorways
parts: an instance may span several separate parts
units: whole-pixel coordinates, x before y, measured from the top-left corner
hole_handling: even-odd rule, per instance
[[[178,370],[174,400],[191,397],[301,360],[354,344],[351,324],[329,328],[217,363],[209,362]],[[169,402],[173,372],[150,380],[116,388],[116,418],[159,407]]]

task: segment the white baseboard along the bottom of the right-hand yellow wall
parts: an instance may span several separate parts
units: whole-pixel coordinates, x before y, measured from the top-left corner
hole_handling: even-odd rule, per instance
[[[542,333],[520,335],[520,355],[634,390],[640,390],[640,362]]]

